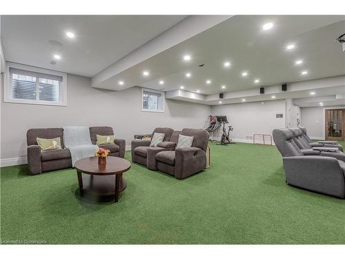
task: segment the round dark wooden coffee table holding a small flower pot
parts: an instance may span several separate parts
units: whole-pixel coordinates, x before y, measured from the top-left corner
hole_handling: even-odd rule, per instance
[[[80,195],[114,195],[115,202],[119,193],[126,189],[122,173],[130,169],[130,162],[120,157],[106,157],[106,165],[98,164],[98,157],[86,157],[75,162]]]

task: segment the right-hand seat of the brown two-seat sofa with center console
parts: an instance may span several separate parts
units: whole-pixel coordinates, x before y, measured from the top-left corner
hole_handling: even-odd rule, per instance
[[[172,136],[172,142],[178,141],[179,133]],[[181,135],[193,136],[193,144],[188,148],[177,148],[174,151],[161,151],[155,155],[153,168],[175,176],[177,179],[206,169],[206,151],[208,132],[202,129],[184,128]]]

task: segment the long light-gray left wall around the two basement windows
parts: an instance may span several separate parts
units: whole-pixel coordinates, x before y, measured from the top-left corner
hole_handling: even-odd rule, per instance
[[[141,111],[141,88],[115,92],[90,87],[90,78],[68,75],[68,106],[4,103],[1,99],[1,160],[26,156],[29,128],[112,126],[126,144],[157,126],[201,128],[210,106],[166,100],[165,113]],[[1,88],[2,91],[3,88]]]

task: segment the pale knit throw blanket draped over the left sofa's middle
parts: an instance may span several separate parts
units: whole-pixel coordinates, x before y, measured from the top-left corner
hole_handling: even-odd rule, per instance
[[[81,158],[93,157],[99,149],[93,145],[90,139],[90,131],[86,126],[66,126],[63,127],[63,142],[70,150],[72,157],[72,167]]]

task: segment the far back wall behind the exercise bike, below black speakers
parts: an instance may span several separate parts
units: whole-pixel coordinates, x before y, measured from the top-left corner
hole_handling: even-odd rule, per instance
[[[274,128],[285,128],[285,100],[224,104],[212,106],[213,115],[226,115],[233,126],[230,137],[235,141],[253,142],[248,136],[255,133],[272,135]],[[283,118],[276,118],[283,113]]]

